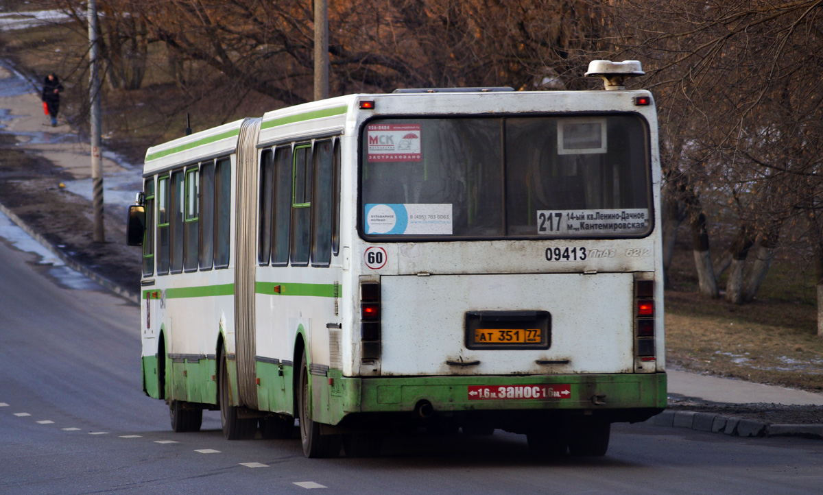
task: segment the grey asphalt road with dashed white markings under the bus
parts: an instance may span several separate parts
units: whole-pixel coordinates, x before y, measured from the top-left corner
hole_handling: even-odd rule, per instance
[[[616,425],[604,458],[542,460],[525,437],[389,438],[377,459],[299,440],[172,433],[142,394],[138,308],[69,288],[0,240],[0,493],[821,493],[823,442]],[[255,467],[257,466],[257,467]]]

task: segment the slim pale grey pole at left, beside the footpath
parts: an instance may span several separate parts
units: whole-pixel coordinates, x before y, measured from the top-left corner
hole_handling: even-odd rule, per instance
[[[100,160],[100,70],[98,67],[97,5],[88,0],[86,21],[89,23],[89,60],[91,76],[89,99],[91,100],[91,183],[94,187],[94,239],[95,243],[105,243],[103,227],[103,164]]]

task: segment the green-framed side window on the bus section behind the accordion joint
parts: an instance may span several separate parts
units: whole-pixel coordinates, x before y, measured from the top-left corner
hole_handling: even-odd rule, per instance
[[[309,264],[311,242],[311,145],[295,146],[295,185],[291,200],[291,266]]]

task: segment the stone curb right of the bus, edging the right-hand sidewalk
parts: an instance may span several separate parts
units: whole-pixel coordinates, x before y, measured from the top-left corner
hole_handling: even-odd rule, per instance
[[[663,411],[647,419],[645,423],[725,433],[732,437],[803,437],[823,440],[823,424],[770,424],[756,419],[695,411]]]

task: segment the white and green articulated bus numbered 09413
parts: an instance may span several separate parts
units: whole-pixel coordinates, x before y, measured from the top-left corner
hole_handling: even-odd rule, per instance
[[[346,95],[147,150],[129,242],[174,431],[213,409],[230,440],[298,419],[309,457],[416,428],[602,456],[658,414],[658,124],[619,84],[639,62],[597,63],[616,90]]]

